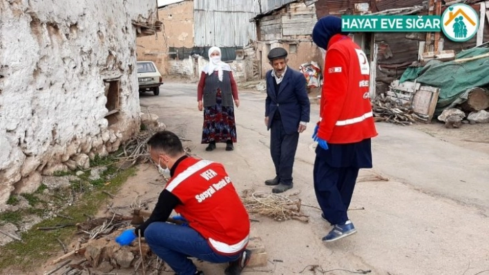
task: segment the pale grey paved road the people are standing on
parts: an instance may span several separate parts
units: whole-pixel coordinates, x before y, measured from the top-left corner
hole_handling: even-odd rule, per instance
[[[140,96],[142,112],[160,116],[167,130],[189,140],[186,145],[194,154],[224,163],[239,191],[270,192],[263,184],[274,176],[269,132],[263,122],[265,94],[241,92],[240,101],[235,150],[226,152],[222,144],[206,152],[200,144],[202,112],[197,109],[196,83],[165,83],[160,96]],[[313,103],[311,121],[317,119],[318,105]],[[474,275],[489,269],[488,154],[414,128],[377,123],[379,136],[372,141],[374,169],[362,170],[361,176],[381,174],[390,181],[359,182],[349,211],[358,233],[325,245],[320,238],[329,226],[315,208],[316,144],[311,140],[311,125],[300,136],[294,189],[285,193],[300,192],[298,197],[311,206],[303,207],[309,223],[256,217],[260,222],[252,224],[253,234],[264,241],[269,265],[247,274],[295,274],[303,269],[301,274],[314,274],[308,265],[319,265],[323,271],[370,269],[372,274]],[[202,268],[214,274],[216,267]]]

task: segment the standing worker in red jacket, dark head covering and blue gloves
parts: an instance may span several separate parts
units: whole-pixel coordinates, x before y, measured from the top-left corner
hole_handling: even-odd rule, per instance
[[[361,48],[341,31],[341,19],[319,19],[312,31],[326,50],[320,118],[313,139],[314,190],[323,219],[333,229],[324,242],[356,233],[347,210],[361,168],[372,168],[370,139],[377,135],[370,104],[370,65]]]

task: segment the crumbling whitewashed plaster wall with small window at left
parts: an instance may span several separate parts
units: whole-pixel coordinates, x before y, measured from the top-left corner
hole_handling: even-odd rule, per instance
[[[41,175],[88,167],[140,126],[132,21],[154,23],[154,0],[0,1],[0,212]],[[104,79],[119,77],[105,118]]]

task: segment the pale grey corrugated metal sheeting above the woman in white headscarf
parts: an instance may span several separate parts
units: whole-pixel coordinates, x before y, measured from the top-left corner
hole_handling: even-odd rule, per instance
[[[256,40],[255,23],[259,0],[193,1],[195,46],[242,47]]]

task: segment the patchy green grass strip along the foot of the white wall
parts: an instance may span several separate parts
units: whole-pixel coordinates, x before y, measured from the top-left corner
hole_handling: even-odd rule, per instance
[[[111,157],[97,157],[94,159],[94,162],[91,163],[91,165],[106,165],[107,163],[110,163],[110,161],[113,162]],[[90,216],[97,214],[99,207],[107,203],[108,199],[110,199],[106,196],[106,194],[102,193],[102,191],[110,192],[112,194],[117,193],[119,187],[127,181],[128,177],[135,175],[135,167],[128,170],[122,170],[117,172],[117,174],[114,174],[116,171],[117,170],[115,167],[109,167],[108,170],[102,174],[101,180],[103,183],[102,181],[90,182],[93,185],[93,188],[90,191],[88,191],[88,188],[84,189],[85,193],[81,196],[81,198],[75,201],[73,205],[64,209],[62,214],[64,216],[72,217],[73,221],[66,221],[66,219],[60,217],[46,219],[32,227],[27,232],[23,232],[20,236],[22,238],[22,242],[14,241],[0,247],[0,274],[4,274],[1,271],[8,269],[8,267],[21,268],[23,272],[32,271],[50,258],[53,252],[61,251],[57,238],[61,239],[61,241],[66,244],[70,243],[70,241],[73,239],[73,235],[76,232],[76,227],[65,227],[52,231],[37,230],[37,227],[52,227],[66,223],[82,223],[86,221],[86,216],[84,216],[84,214]],[[78,183],[79,187],[72,187],[75,190],[76,188],[81,188],[82,182],[83,181],[80,181],[80,183]],[[110,184],[106,185],[105,183],[107,182],[110,182]],[[73,185],[76,185],[76,183]],[[42,187],[41,185],[37,192],[41,192],[45,189],[46,187]],[[30,205],[47,203],[46,201],[41,201],[41,199],[38,196],[35,196],[35,194],[21,194],[21,196],[26,198]],[[56,198],[56,196],[57,195],[55,194],[53,197]],[[59,197],[62,198],[62,196]],[[37,214],[41,216],[44,214],[44,210],[31,207],[27,210],[20,210],[18,212],[6,212],[0,214],[0,221],[13,223],[19,226],[22,221],[22,217],[27,214]],[[58,256],[61,256],[61,254],[58,254]]]

